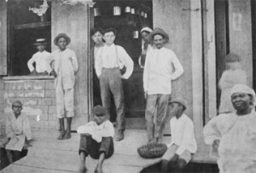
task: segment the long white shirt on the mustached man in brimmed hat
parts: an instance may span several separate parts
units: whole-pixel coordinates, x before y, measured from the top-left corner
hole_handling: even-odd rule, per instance
[[[174,72],[172,72],[174,66]],[[183,66],[177,55],[166,48],[150,49],[147,52],[143,72],[143,87],[148,95],[172,93],[172,80],[183,74]]]

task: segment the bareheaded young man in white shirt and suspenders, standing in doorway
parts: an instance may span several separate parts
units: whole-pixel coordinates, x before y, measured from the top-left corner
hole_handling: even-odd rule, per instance
[[[124,139],[125,130],[125,104],[122,78],[128,79],[133,71],[133,61],[121,46],[113,42],[116,37],[116,30],[109,28],[104,32],[103,38],[106,41],[100,52],[96,55],[95,68],[96,75],[100,80],[102,105],[110,109],[110,95],[113,94],[113,100],[117,112],[118,134],[116,141]],[[119,69],[126,67],[125,74],[121,74]]]

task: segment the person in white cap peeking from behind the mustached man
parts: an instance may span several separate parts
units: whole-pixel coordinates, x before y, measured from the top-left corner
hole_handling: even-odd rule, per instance
[[[151,47],[151,45],[148,41],[148,35],[149,35],[150,32],[152,32],[152,29],[150,29],[148,26],[143,27],[143,29],[141,30],[142,55],[139,57],[138,63],[142,68],[144,68],[144,66],[145,66],[147,51],[149,49],[152,49],[152,47]]]

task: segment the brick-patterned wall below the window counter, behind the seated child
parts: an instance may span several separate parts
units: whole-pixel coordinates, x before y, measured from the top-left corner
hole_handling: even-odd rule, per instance
[[[12,102],[20,100],[23,103],[22,112],[28,115],[32,129],[58,129],[54,79],[27,78],[3,80],[4,116],[12,113]],[[3,121],[4,118],[1,120]]]

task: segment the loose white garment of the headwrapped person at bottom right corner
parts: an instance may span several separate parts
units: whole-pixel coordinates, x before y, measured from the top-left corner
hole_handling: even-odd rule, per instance
[[[238,116],[235,112],[220,114],[204,127],[205,141],[218,145],[220,173],[256,172],[256,113]]]

